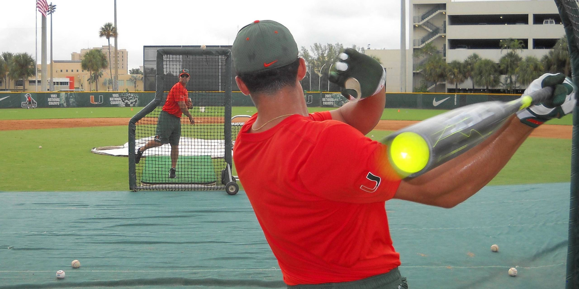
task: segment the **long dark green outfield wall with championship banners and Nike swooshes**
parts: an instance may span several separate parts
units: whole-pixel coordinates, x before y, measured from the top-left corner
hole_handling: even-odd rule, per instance
[[[203,96],[219,92],[190,92],[194,105],[204,105]],[[28,95],[32,104],[27,102]],[[483,101],[510,101],[515,94],[386,93],[386,108],[453,109]],[[0,108],[27,107],[144,107],[154,92],[0,92]],[[234,107],[252,107],[251,98],[233,92]],[[308,107],[341,107],[345,97],[335,92],[304,92]]]

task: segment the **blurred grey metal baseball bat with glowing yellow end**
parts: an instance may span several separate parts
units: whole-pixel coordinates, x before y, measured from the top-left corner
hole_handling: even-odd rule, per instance
[[[551,97],[552,87],[508,102],[487,101],[453,109],[398,130],[380,142],[402,178],[417,177],[480,144],[517,111]]]

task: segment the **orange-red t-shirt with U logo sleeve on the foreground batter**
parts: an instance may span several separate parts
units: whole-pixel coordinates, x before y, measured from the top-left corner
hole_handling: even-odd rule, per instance
[[[386,146],[329,112],[292,115],[272,129],[241,128],[241,184],[288,285],[364,279],[400,265],[384,202],[400,180]]]

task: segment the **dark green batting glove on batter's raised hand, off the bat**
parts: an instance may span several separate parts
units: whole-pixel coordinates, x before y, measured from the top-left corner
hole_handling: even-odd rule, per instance
[[[349,100],[360,100],[380,92],[386,83],[386,71],[374,58],[346,48],[338,55],[335,70],[329,81],[342,87],[342,95]]]

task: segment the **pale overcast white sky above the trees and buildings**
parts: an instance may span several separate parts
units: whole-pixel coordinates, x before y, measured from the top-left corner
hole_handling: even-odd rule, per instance
[[[48,1],[50,3],[50,1]],[[41,14],[36,0],[0,0],[0,53],[35,56],[41,62]],[[54,0],[53,59],[70,60],[72,52],[107,45],[98,30],[114,23],[114,1]],[[400,0],[118,0],[119,49],[129,52],[129,69],[142,65],[145,45],[231,45],[237,30],[254,20],[276,20],[290,29],[298,47],[315,42],[352,44],[373,49],[400,48]],[[50,61],[50,16],[47,63]],[[111,45],[113,39],[111,39]]]

